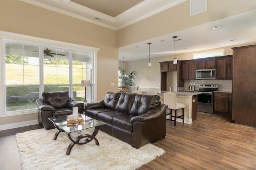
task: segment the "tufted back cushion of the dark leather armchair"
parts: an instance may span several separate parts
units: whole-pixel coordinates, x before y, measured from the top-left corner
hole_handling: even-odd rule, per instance
[[[44,98],[44,102],[54,107],[55,109],[66,107],[69,101],[68,91],[43,92],[42,97]]]

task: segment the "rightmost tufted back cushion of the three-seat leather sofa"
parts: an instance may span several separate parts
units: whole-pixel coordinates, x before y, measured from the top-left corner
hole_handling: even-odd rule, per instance
[[[130,114],[142,115],[160,104],[160,96],[136,94]]]

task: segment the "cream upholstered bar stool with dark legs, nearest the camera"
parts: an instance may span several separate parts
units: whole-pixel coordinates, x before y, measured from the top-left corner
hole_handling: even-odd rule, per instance
[[[184,123],[184,108],[185,105],[182,103],[177,103],[177,96],[175,93],[164,93],[164,104],[168,105],[168,109],[170,109],[170,113],[166,114],[166,115],[171,115],[171,119],[167,119],[167,120],[172,120],[172,117],[174,117],[174,126],[176,126],[176,118],[182,118],[182,123]],[[175,110],[175,114],[174,116],[172,115],[172,109]],[[182,115],[177,116],[177,110],[178,109],[182,109]]]

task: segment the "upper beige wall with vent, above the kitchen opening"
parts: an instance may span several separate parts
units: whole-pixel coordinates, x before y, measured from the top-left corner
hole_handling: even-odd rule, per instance
[[[189,16],[190,0],[117,31],[123,47],[256,9],[255,0],[207,0],[207,11]],[[241,8],[242,7],[242,8]]]

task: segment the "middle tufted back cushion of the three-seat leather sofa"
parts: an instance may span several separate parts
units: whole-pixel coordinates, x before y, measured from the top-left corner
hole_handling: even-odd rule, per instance
[[[136,94],[121,93],[115,110],[130,114],[135,95]]]

